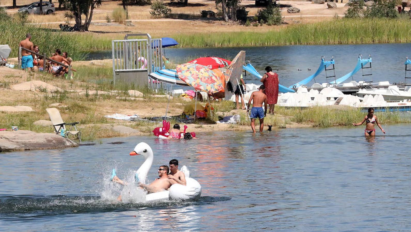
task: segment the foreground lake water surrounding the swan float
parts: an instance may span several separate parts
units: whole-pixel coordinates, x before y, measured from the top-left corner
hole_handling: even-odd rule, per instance
[[[373,139],[363,127],[302,128],[0,153],[0,230],[410,231],[411,125],[383,126]],[[130,177],[141,141],[155,152],[149,180],[179,159],[201,198],[115,202],[111,169]]]

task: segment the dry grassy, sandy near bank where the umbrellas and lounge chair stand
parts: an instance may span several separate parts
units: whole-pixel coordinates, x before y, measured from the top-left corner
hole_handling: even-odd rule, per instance
[[[84,62],[85,63],[85,62]],[[153,97],[149,89],[139,89],[143,93],[141,98],[133,98],[128,95],[127,90],[134,89],[131,86],[111,84],[111,67],[108,65],[78,65],[76,76],[73,80],[55,78],[49,74],[27,74],[24,71],[15,71],[4,77],[0,77],[2,83],[8,83],[2,89],[1,105],[26,105],[32,107],[32,112],[0,112],[0,128],[11,128],[18,126],[21,130],[32,130],[35,132],[53,132],[51,126],[39,126],[34,122],[37,120],[49,120],[46,108],[52,103],[60,103],[58,107],[62,118],[67,122],[79,122],[83,140],[95,140],[97,138],[120,136],[118,132],[111,130],[113,125],[126,125],[139,130],[142,134],[151,134],[153,128],[160,122],[136,121],[125,122],[104,115],[114,114],[138,114],[142,117],[164,115],[167,107],[167,98]],[[46,89],[38,91],[14,91],[13,84],[41,80],[60,87],[61,91],[49,93]],[[158,94],[158,93],[157,93]],[[179,115],[187,104],[179,97],[171,99],[169,115]],[[205,103],[203,103],[204,105]],[[234,102],[217,101],[212,102],[214,111],[208,120],[199,121],[189,126],[190,131],[214,131],[214,130],[249,130],[249,118],[245,111],[235,109]],[[275,128],[286,127],[332,127],[351,126],[352,123],[361,121],[365,112],[360,109],[343,107],[310,107],[284,108],[275,107],[275,115],[267,115],[266,125]],[[219,116],[240,114],[241,121],[238,125],[208,125],[217,121]],[[411,118],[404,117],[402,113],[376,113],[381,123],[410,123]],[[176,121],[171,122],[176,123]]]

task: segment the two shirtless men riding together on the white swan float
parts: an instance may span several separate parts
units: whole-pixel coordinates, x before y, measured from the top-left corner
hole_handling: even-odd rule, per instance
[[[170,166],[162,165],[159,167],[157,171],[159,177],[155,179],[151,184],[142,184],[141,182],[139,182],[139,187],[141,189],[144,189],[148,193],[157,193],[168,190],[173,184],[181,184],[185,186],[187,184],[185,180],[185,174],[182,171],[178,170],[178,160],[171,159],[169,165]],[[128,184],[124,180],[118,178],[118,176],[115,174],[115,170],[113,170],[113,177],[111,178],[111,181],[121,185]],[[118,196],[117,200],[121,201],[121,195]]]

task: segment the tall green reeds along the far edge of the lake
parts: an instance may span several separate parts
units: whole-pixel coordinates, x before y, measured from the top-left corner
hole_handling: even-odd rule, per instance
[[[169,36],[180,43],[180,47],[239,47],[270,45],[316,45],[316,44],[361,44],[361,43],[409,43],[411,42],[411,20],[398,19],[349,19],[335,18],[327,22],[273,26],[268,32],[227,32],[155,34],[153,38]],[[18,41],[25,33],[32,34],[32,41],[42,51],[55,48],[69,51],[75,60],[81,60],[85,52],[111,49],[112,39],[122,39],[118,34],[60,32],[35,25],[22,25],[0,21],[0,37],[3,43],[12,46],[11,57],[17,56]]]

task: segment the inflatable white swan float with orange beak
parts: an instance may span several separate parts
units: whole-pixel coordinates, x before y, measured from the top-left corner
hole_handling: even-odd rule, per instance
[[[147,143],[141,142],[137,144],[132,152],[130,152],[130,155],[142,155],[144,157],[145,161],[137,170],[136,175],[138,176],[138,181],[145,184],[145,179],[147,178],[148,171],[153,162],[153,151]],[[201,185],[199,182],[189,177],[190,172],[185,165],[182,166],[180,171],[185,174],[185,180],[187,182],[186,186],[182,184],[173,184],[167,191],[147,194],[145,200],[189,200],[200,197]]]

